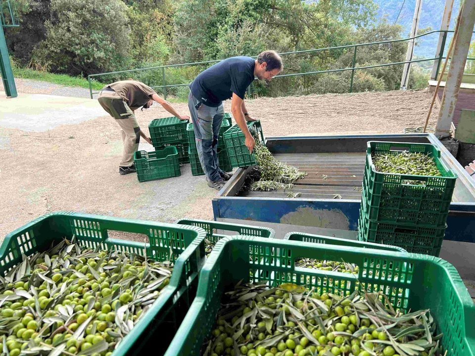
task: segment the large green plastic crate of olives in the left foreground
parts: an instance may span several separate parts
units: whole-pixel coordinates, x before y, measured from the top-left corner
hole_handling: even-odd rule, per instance
[[[111,231],[143,234],[147,243],[118,240]],[[196,226],[120,219],[99,215],[57,212],[42,216],[6,235],[0,246],[0,272],[6,274],[30,256],[46,251],[63,238],[76,237],[85,247],[115,249],[175,262],[168,286],[131,332],[118,344],[113,356],[146,354],[153,348],[162,355],[185,317],[196,293],[198,272],[205,261],[206,233]],[[160,343],[156,343],[156,335]]]

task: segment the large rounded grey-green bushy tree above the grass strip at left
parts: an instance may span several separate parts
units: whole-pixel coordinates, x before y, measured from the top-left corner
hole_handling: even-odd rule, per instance
[[[36,61],[71,75],[120,70],[130,61],[127,6],[120,0],[51,0]]]

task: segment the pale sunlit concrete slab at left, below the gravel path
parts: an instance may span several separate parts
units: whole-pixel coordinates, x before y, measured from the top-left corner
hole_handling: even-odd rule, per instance
[[[93,99],[25,93],[8,99],[0,91],[2,128],[44,132],[60,125],[77,125],[107,115]]]

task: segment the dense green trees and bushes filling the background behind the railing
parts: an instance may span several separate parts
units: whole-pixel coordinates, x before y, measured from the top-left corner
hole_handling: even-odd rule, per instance
[[[403,28],[376,21],[373,0],[15,0],[21,26],[6,29],[17,64],[72,76],[165,64],[292,52],[405,37]],[[404,59],[406,43],[358,47],[355,65]],[[287,54],[285,73],[349,68],[354,48]],[[187,84],[206,65],[166,68],[166,84]],[[402,66],[354,72],[353,91],[392,90]],[[413,71],[414,83],[426,72]],[[109,75],[101,82],[136,78],[163,84],[162,69]],[[252,95],[347,92],[352,71],[285,77]],[[186,96],[188,88],[168,93]]]

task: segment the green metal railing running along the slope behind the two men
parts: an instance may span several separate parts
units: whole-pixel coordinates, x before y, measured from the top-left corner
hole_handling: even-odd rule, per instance
[[[409,40],[421,38],[421,37],[424,37],[424,36],[428,36],[428,35],[431,35],[433,33],[440,33],[440,32],[444,33],[443,34],[443,40],[442,40],[442,46],[441,46],[441,49],[439,51],[439,55],[435,58],[414,59],[414,60],[403,61],[403,62],[382,63],[382,64],[375,64],[375,65],[369,65],[369,66],[355,67],[355,65],[356,65],[356,54],[357,54],[358,47],[404,42],[404,41],[409,41]],[[446,40],[447,40],[447,35],[448,35],[448,33],[453,33],[453,32],[454,31],[452,31],[452,30],[445,30],[445,31],[443,31],[443,30],[434,30],[434,31],[427,32],[425,34],[421,34],[421,35],[417,35],[417,36],[409,37],[409,38],[405,38],[405,39],[399,39],[399,40],[388,40],[388,41],[371,42],[371,43],[356,44],[356,45],[342,45],[342,46],[336,46],[336,47],[316,48],[316,49],[307,49],[307,50],[279,53],[281,56],[285,56],[285,55],[290,55],[290,54],[316,53],[316,52],[327,51],[327,50],[354,48],[353,60],[352,60],[352,66],[351,67],[340,68],[340,69],[321,70],[321,71],[312,71],[312,72],[281,74],[281,75],[277,75],[274,78],[284,78],[284,77],[295,77],[295,76],[304,76],[304,75],[315,75],[315,74],[322,74],[322,73],[334,73],[334,72],[351,71],[349,92],[352,92],[353,91],[353,78],[354,78],[355,71],[361,70],[361,69],[387,67],[387,66],[400,65],[400,64],[405,64],[405,63],[416,63],[416,62],[426,62],[426,61],[436,60],[437,61],[437,74],[438,74],[439,69],[440,69],[440,63],[441,63],[442,59],[445,58],[443,56],[443,53],[444,53],[445,43],[446,43]],[[256,58],[256,57],[257,56],[252,56],[251,58]],[[475,60],[475,58],[467,58],[467,59]],[[93,78],[97,78],[97,77],[100,77],[100,76],[106,76],[106,75],[124,74],[124,73],[132,73],[132,72],[137,73],[137,72],[142,72],[142,71],[152,71],[152,70],[160,70],[161,69],[161,71],[162,71],[162,85],[150,85],[150,87],[152,89],[160,89],[161,88],[163,90],[163,96],[166,99],[167,98],[167,88],[185,87],[185,86],[190,85],[190,83],[187,83],[187,84],[169,84],[169,85],[167,85],[166,84],[166,78],[165,78],[165,69],[166,68],[176,68],[176,67],[183,67],[183,66],[211,64],[211,63],[220,62],[221,60],[222,59],[202,61],[202,62],[193,62],[193,63],[169,64],[169,65],[163,65],[163,66],[157,66],[157,67],[129,69],[129,70],[125,70],[125,71],[91,74],[91,75],[88,75],[89,90],[90,90],[90,93],[91,93],[91,98],[93,98],[93,94],[98,93],[98,92],[93,92],[93,88],[92,88]]]

